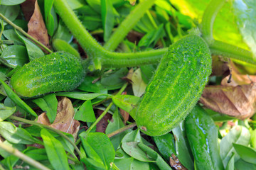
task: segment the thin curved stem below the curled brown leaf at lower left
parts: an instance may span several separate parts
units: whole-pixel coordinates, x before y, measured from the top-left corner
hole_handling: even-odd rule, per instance
[[[14,115],[11,115],[9,118],[11,118],[13,120],[17,120],[19,122],[28,123],[28,124],[31,124],[31,125],[37,125],[37,126],[39,126],[41,128],[46,128],[48,130],[51,130],[51,131],[57,133],[58,135],[63,137],[65,140],[68,140],[68,142],[70,142],[70,144],[73,145],[73,147],[75,148],[76,152],[78,152],[79,156],[81,157],[82,154],[81,154],[80,150],[78,149],[78,147],[75,145],[75,143],[73,141],[70,140],[70,138],[68,138],[66,135],[64,135],[62,131],[57,130],[55,128],[51,128],[48,125],[43,125],[41,123],[36,123],[36,122],[34,122],[32,120],[26,120],[26,119],[23,119],[23,118],[19,118],[19,117],[14,116]]]

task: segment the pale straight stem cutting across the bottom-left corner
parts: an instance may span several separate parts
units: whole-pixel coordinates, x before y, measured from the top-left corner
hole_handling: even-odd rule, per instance
[[[31,166],[34,166],[37,169],[50,170],[48,169],[48,167],[44,166],[43,164],[37,162],[31,157],[26,156],[26,154],[23,154],[18,149],[9,147],[9,145],[5,145],[3,142],[0,142],[0,147],[1,149],[4,149],[6,152],[13,154],[14,156],[18,157],[19,159],[22,159],[24,162],[27,162],[28,164],[31,164]]]

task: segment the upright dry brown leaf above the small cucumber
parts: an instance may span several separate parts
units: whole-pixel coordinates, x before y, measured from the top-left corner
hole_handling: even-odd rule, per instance
[[[28,22],[28,34],[36,38],[39,42],[42,42],[46,47],[50,47],[46,25],[37,1],[35,2],[33,15]]]

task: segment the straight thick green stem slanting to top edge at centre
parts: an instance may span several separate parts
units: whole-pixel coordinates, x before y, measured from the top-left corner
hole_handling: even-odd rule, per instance
[[[110,39],[105,43],[103,47],[106,50],[115,50],[122,40],[124,40],[125,36],[129,33],[132,28],[136,25],[140,18],[146,13],[146,11],[153,6],[156,0],[144,0],[141,1],[131,13],[127,16],[127,18],[122,21],[122,23],[118,26],[117,30],[111,35]]]

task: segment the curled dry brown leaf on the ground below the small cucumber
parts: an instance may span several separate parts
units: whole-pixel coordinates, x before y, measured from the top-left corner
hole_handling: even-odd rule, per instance
[[[50,124],[46,113],[39,115],[37,122],[42,123],[43,125],[49,125],[51,128],[63,132],[68,132],[76,139],[80,123],[78,120],[74,119],[74,114],[75,111],[70,99],[65,97],[58,102],[57,115],[53,124]]]

